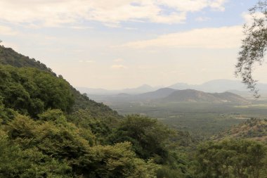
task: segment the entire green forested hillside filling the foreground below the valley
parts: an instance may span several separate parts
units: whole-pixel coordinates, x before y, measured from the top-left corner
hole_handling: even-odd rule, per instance
[[[119,115],[4,46],[0,76],[0,177],[266,177],[266,120],[200,140]]]

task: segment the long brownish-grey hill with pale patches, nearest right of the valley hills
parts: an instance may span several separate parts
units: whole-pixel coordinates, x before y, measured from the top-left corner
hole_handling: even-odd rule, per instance
[[[249,103],[245,98],[232,94],[224,93],[206,93],[195,89],[184,89],[172,92],[169,96],[162,98],[164,102],[207,102],[207,103]]]

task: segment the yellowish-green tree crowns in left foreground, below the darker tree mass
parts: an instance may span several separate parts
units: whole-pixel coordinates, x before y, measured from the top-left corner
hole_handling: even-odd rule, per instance
[[[48,112],[51,113],[53,110]],[[54,158],[77,158],[94,144],[94,136],[89,130],[85,134],[82,129],[67,122],[63,115],[48,122],[34,121],[19,115],[8,123],[6,128],[8,135],[16,143],[24,148],[37,147]]]

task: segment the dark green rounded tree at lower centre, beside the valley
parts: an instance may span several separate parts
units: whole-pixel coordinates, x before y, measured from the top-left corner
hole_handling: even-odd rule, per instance
[[[129,115],[110,136],[112,143],[130,141],[133,150],[140,158],[154,158],[156,163],[163,163],[168,156],[166,143],[171,130],[157,120],[139,115]]]

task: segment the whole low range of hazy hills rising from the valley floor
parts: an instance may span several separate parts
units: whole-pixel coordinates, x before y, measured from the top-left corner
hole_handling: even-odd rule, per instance
[[[230,104],[249,104],[250,102],[237,94],[231,92],[207,93],[195,89],[171,89],[162,88],[143,94],[115,94],[115,95],[89,95],[90,98],[103,103],[230,103]]]

